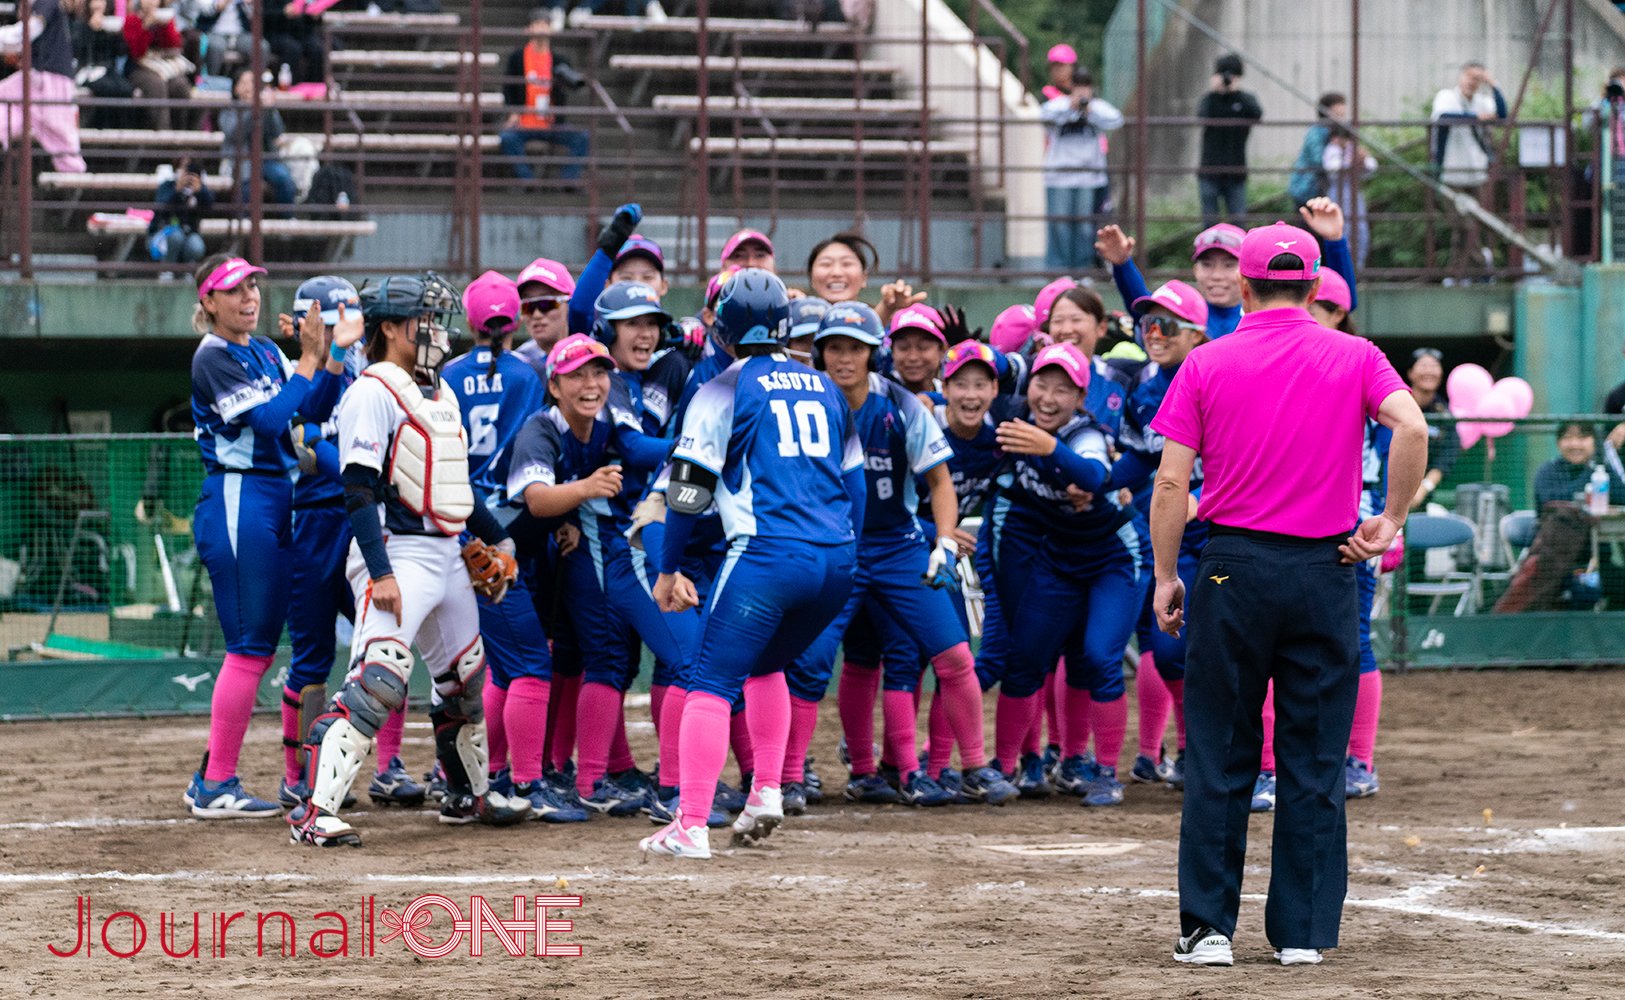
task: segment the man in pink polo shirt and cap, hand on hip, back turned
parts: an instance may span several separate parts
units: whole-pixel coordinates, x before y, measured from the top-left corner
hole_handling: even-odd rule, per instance
[[[1264,933],[1282,964],[1337,946],[1349,883],[1344,756],[1360,683],[1354,564],[1388,550],[1427,467],[1427,423],[1368,340],[1308,314],[1315,237],[1242,241],[1245,315],[1191,351],[1150,421],[1167,437],[1150,501],[1157,624],[1185,624],[1180,538],[1196,457],[1209,541],[1191,593],[1175,958],[1232,963],[1246,823],[1276,681],[1276,837]],[[1394,431],[1388,502],[1358,520],[1365,418]]]

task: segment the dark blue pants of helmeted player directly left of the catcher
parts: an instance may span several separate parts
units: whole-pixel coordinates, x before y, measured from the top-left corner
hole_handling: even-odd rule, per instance
[[[288,639],[292,660],[288,688],[304,691],[325,685],[333,673],[338,616],[356,620],[356,595],[344,579],[349,558],[349,512],[341,499],[294,511],[292,600],[288,611]]]

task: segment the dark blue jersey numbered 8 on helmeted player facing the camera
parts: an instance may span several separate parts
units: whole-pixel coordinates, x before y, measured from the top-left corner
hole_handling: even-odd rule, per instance
[[[920,527],[915,512],[921,491],[915,476],[954,455],[942,428],[920,397],[874,372],[869,372],[869,398],[852,416],[863,441],[863,478],[869,489],[863,533]]]

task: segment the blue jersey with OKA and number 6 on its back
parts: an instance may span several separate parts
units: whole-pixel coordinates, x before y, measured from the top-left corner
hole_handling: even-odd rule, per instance
[[[505,493],[514,439],[533,413],[543,408],[546,392],[535,369],[523,358],[504,351],[491,371],[491,348],[450,361],[440,372],[463,410],[468,431],[468,475],[483,501],[497,507]]]

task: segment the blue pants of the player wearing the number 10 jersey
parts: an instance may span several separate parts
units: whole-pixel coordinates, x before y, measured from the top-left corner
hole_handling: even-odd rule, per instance
[[[689,691],[733,702],[748,678],[788,668],[845,610],[855,566],[853,545],[734,540],[705,605]],[[803,698],[795,681],[790,693]],[[822,696],[821,686],[808,701]]]

